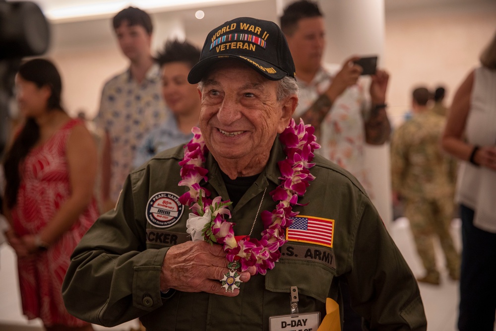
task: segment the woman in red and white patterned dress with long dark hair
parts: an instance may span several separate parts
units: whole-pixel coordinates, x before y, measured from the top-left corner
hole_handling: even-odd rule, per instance
[[[61,106],[62,82],[49,61],[19,67],[16,99],[25,124],[7,149],[4,208],[17,254],[22,310],[47,331],[92,330],[65,310],[62,280],[75,246],[98,217],[96,147],[83,122]]]

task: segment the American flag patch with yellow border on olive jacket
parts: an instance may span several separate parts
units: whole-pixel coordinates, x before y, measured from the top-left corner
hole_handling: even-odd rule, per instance
[[[286,228],[286,240],[332,247],[334,220],[313,216],[291,217]]]

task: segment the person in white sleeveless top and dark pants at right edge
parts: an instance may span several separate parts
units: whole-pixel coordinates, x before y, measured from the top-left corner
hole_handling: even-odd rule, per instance
[[[496,313],[496,33],[458,87],[442,136],[460,167],[460,331],[493,331]]]

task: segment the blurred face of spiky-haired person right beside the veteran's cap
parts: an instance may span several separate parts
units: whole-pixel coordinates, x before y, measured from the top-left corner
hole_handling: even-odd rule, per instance
[[[191,114],[200,108],[197,85],[187,81],[190,69],[184,62],[171,62],[162,66],[162,95],[176,115]]]

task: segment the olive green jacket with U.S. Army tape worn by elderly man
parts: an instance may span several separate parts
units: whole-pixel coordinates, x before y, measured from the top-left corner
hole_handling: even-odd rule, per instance
[[[190,240],[189,209],[178,201],[187,190],[178,186],[182,158],[182,147],[167,150],[132,172],[115,210],[83,237],[63,283],[71,314],[107,327],[139,318],[147,331],[268,331],[270,316],[290,313],[291,286],[298,287],[300,313],[318,311],[322,319],[327,297],[341,302],[341,279],[348,282],[353,308],[367,330],[426,330],[415,277],[372,202],[351,174],[320,156],[310,170],[316,179],[294,210],[332,220],[331,245],[288,241],[275,267],[242,283],[236,297],[180,291],[164,296],[164,257],[173,245]],[[248,235],[265,188],[260,210],[275,208],[268,193],[279,185],[277,161],[284,158],[276,139],[265,170],[236,207],[230,206],[236,235]],[[212,198],[229,199],[211,154],[206,168],[208,183],[201,185]],[[262,230],[258,217],[252,236],[260,239]]]

